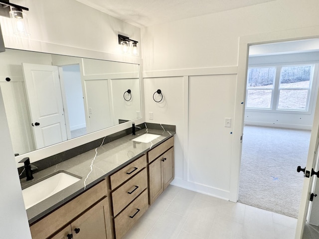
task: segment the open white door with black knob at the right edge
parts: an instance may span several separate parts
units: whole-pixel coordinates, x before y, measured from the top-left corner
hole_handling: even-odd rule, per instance
[[[319,94],[317,97],[317,104],[316,104],[313,128],[311,131],[310,145],[309,145],[307,165],[306,165],[306,172],[309,172],[309,174],[311,174],[312,169],[314,170],[316,169],[315,166],[316,166],[316,161],[317,161],[316,159],[317,159],[317,153],[318,153],[317,149],[319,144],[319,138],[318,138],[319,136],[319,103],[318,102],[319,102]],[[305,167],[303,165],[300,165],[300,166],[302,168]],[[316,175],[305,177],[305,180],[304,180],[304,187],[303,187],[303,193],[302,193],[302,198],[300,203],[298,223],[297,223],[296,236],[295,236],[296,239],[301,239],[304,232],[304,227],[306,223],[306,217],[307,217],[309,202],[310,202],[309,199],[312,193],[311,190],[312,190],[312,183],[313,183],[314,177],[316,177]]]

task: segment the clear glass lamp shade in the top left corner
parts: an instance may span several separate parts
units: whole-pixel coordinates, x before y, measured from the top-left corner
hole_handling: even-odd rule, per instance
[[[27,16],[20,8],[12,7],[10,18],[14,34],[22,36],[30,35]]]

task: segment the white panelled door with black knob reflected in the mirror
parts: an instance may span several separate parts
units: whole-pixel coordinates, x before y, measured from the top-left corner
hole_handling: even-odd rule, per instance
[[[67,139],[57,66],[22,63],[36,148]]]

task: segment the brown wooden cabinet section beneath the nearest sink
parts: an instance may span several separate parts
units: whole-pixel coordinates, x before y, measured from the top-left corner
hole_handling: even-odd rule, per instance
[[[111,239],[109,201],[106,195],[107,184],[103,180],[31,225],[32,239]],[[78,230],[75,229],[80,231],[76,233]]]

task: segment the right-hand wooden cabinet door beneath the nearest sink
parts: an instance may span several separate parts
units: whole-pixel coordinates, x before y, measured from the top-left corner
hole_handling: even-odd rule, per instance
[[[111,239],[107,237],[111,232],[108,210],[108,201],[104,199],[72,222],[73,239]]]

